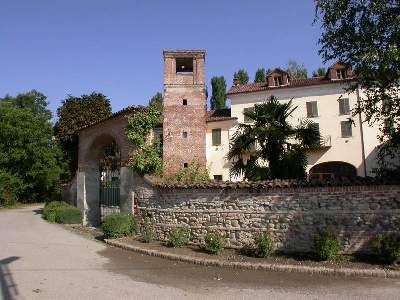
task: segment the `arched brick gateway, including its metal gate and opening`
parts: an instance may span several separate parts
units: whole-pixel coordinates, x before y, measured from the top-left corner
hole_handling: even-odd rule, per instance
[[[110,212],[132,213],[133,171],[127,161],[135,147],[125,127],[126,118],[119,117],[79,133],[77,206],[85,225],[98,226]]]

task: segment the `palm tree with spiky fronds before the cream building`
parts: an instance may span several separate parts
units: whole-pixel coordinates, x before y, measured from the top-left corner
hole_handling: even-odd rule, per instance
[[[288,118],[297,107],[274,96],[244,112],[250,124],[239,124],[227,155],[231,175],[248,180],[305,178],[306,150],[320,145],[316,124],[302,120],[292,126]]]

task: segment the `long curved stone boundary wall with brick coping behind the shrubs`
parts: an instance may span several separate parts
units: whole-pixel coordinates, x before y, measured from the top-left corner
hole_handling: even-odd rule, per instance
[[[152,220],[160,240],[185,226],[194,243],[202,243],[207,230],[219,230],[228,247],[238,248],[268,231],[278,249],[309,252],[315,234],[330,230],[341,237],[344,252],[353,253],[368,251],[377,234],[400,230],[399,185],[231,189],[134,182],[135,214]]]

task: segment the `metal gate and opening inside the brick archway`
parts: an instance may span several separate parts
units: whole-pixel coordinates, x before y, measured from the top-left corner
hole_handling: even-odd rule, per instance
[[[117,144],[113,142],[104,148],[100,159],[101,220],[111,213],[120,211],[120,168],[120,153]]]

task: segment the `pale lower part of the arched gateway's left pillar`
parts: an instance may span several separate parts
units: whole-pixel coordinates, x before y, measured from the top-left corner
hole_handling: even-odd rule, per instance
[[[83,225],[100,224],[99,171],[77,172],[77,207],[82,212]]]

